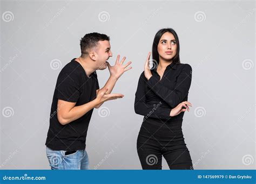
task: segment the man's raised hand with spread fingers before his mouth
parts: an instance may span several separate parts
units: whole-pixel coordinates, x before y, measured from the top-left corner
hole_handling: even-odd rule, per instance
[[[127,68],[132,62],[129,61],[125,65],[123,65],[125,61],[125,57],[122,59],[122,61],[119,62],[120,55],[117,55],[116,63],[113,66],[110,66],[110,63],[107,62],[107,67],[109,68],[110,75],[113,76],[115,79],[119,79],[121,75],[123,75],[124,72],[126,72],[129,69],[132,69],[132,67]]]

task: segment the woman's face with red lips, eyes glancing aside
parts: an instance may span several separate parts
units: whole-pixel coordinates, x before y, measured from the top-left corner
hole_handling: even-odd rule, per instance
[[[159,60],[171,61],[177,53],[177,43],[172,33],[165,32],[158,43]]]

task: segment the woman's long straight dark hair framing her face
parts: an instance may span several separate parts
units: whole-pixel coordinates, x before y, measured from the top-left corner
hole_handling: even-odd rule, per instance
[[[176,55],[173,57],[172,62],[173,63],[180,63],[180,59],[179,59],[179,38],[178,38],[177,33],[171,28],[161,29],[156,33],[156,36],[154,36],[154,41],[153,41],[153,45],[152,45],[152,59],[156,60],[157,64],[159,64],[159,54],[158,54],[158,51],[157,51],[157,46],[159,44],[161,36],[166,32],[170,32],[170,33],[173,34],[173,36],[176,40],[176,44],[177,44],[177,52],[176,52]]]

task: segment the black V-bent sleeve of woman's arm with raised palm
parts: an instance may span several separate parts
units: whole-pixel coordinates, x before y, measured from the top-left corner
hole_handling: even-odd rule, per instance
[[[192,68],[188,64],[184,64],[179,76],[177,77],[177,84],[174,89],[169,89],[159,82],[159,80],[152,76],[147,84],[149,87],[163,99],[171,108],[176,107],[188,95],[188,90],[191,86]]]

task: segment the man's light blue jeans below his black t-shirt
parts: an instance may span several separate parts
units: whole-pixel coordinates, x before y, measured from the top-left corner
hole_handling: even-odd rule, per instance
[[[46,146],[46,155],[51,169],[89,169],[89,158],[85,150],[65,155],[64,150],[56,151]]]

